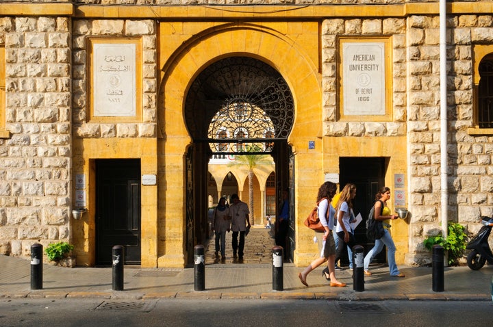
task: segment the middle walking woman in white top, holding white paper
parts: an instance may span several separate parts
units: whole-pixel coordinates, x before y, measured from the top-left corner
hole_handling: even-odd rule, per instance
[[[353,216],[353,198],[356,196],[356,185],[353,183],[347,183],[340,194],[337,211],[337,226],[336,232],[339,237],[338,248],[336,253],[336,262],[341,258],[344,246],[353,248],[355,246],[354,232],[351,228],[351,222],[354,220]],[[349,258],[351,263],[352,258]],[[350,268],[352,264],[350,264]]]

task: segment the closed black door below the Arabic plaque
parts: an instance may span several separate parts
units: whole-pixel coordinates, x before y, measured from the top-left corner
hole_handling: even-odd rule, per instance
[[[124,246],[125,264],[140,265],[140,159],[96,160],[96,264],[112,264]]]

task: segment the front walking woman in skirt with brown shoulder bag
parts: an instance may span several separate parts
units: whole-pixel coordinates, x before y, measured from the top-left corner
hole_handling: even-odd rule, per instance
[[[317,207],[318,207],[318,219],[322,223],[325,232],[315,232],[318,250],[320,251],[320,257],[312,261],[303,272],[298,274],[299,279],[303,285],[308,286],[306,278],[312,270],[327,261],[327,268],[329,277],[322,272],[323,276],[330,279],[330,285],[333,287],[344,287],[346,283],[341,283],[336,279],[336,272],[334,269],[334,263],[336,259],[336,244],[333,238],[331,229],[334,227],[334,216],[336,210],[331,205],[331,199],[336,194],[337,185],[332,182],[323,183],[318,189],[317,195]]]

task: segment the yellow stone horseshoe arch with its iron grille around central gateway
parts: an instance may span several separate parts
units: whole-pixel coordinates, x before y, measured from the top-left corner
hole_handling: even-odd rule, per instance
[[[296,36],[261,25],[216,26],[194,35],[164,62],[160,92],[164,138],[157,146],[166,156],[158,166],[160,174],[173,179],[174,189],[158,182],[160,198],[173,203],[160,206],[164,220],[159,228],[166,241],[157,248],[158,266],[192,263],[194,245],[207,236],[207,162],[214,151],[236,153],[238,146],[242,151],[260,146],[262,153],[272,153],[275,159],[277,196],[290,187],[292,197],[301,200],[292,202],[293,217],[300,206],[304,212],[312,205],[312,193],[304,189],[313,192],[322,179],[322,160],[316,158],[321,159],[323,146],[309,149],[307,144],[318,142],[322,97],[320,68],[305,48],[318,47],[316,26],[313,34]],[[291,36],[303,42],[298,44]],[[228,112],[235,114],[227,128],[214,132],[214,123]],[[257,124],[260,129],[244,125],[244,117],[251,113],[264,118]],[[297,176],[301,184],[296,183]],[[301,194],[295,196],[300,187]],[[298,220],[292,222],[293,244],[299,238],[297,224]],[[299,249],[291,248],[295,263]]]

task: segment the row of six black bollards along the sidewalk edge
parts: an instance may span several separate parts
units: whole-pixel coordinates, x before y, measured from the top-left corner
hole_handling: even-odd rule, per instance
[[[31,289],[42,289],[42,245],[31,246]],[[123,246],[112,248],[112,287],[114,291],[123,291]],[[364,248],[353,246],[353,289],[364,291]],[[444,291],[444,248],[439,245],[433,246],[433,275],[432,288],[435,292]],[[283,291],[283,248],[273,247],[273,291]],[[204,247],[194,247],[194,290],[205,290],[205,257]],[[492,280],[493,298],[493,280]]]

